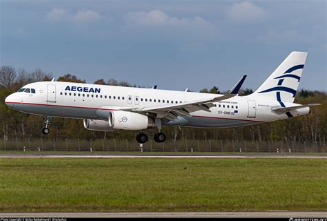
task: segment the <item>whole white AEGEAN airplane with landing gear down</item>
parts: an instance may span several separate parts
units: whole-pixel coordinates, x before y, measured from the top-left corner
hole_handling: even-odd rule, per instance
[[[137,142],[148,141],[146,128],[157,128],[155,142],[165,142],[162,126],[228,128],[273,122],[310,113],[319,104],[295,104],[307,52],[291,52],[252,94],[239,96],[244,75],[225,95],[153,88],[130,88],[62,81],[27,84],[6,97],[10,108],[43,115],[42,133],[50,132],[52,117],[83,119],[91,131],[140,131]]]

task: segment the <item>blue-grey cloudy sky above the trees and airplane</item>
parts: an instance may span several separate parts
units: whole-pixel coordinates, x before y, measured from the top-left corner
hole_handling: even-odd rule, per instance
[[[168,90],[257,89],[290,52],[327,90],[326,1],[0,0],[0,66]]]

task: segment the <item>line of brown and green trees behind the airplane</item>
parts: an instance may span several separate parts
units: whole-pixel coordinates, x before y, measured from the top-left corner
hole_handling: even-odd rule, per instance
[[[3,139],[11,138],[40,138],[43,128],[43,117],[28,115],[14,111],[4,103],[10,93],[17,91],[22,86],[36,81],[50,81],[52,75],[43,72],[40,68],[27,71],[23,68],[12,66],[1,66],[0,68],[0,136]],[[70,81],[86,83],[76,75],[65,74],[57,81]],[[130,84],[128,81],[117,81],[115,79],[98,79],[93,84],[112,86],[141,87]],[[201,93],[224,93],[217,86],[204,88]],[[250,88],[241,89],[239,95],[253,93]],[[199,139],[199,140],[271,140],[283,142],[325,142],[327,135],[327,93],[319,90],[298,91],[295,102],[299,104],[319,103],[321,106],[311,108],[311,113],[300,117],[279,120],[254,126],[241,126],[237,128],[178,128],[164,127],[164,132],[170,140]],[[51,133],[47,135],[51,139],[135,139],[135,131],[97,132],[88,131],[83,128],[81,119],[54,118],[50,125]],[[154,129],[146,131],[152,136]]]

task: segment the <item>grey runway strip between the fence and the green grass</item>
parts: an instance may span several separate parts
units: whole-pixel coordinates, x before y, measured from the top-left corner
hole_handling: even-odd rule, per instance
[[[211,154],[211,153],[0,153],[0,158],[304,158],[327,159],[314,154]]]

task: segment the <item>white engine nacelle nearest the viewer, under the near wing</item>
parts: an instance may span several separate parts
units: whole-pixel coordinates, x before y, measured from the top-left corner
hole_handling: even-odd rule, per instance
[[[155,127],[154,119],[130,111],[110,111],[109,126],[117,130],[143,130]]]

